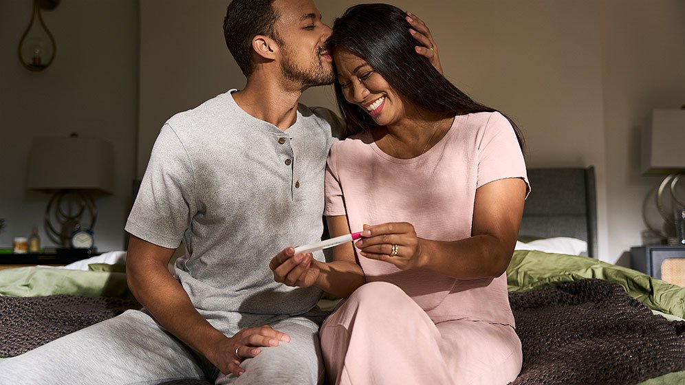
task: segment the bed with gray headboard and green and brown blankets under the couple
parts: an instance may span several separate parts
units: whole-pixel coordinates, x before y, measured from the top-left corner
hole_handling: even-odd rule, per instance
[[[524,355],[512,384],[685,384],[685,289],[596,259],[592,168],[529,176],[521,242],[507,270]],[[140,306],[120,265],[82,265],[89,271],[0,271],[0,360]],[[36,333],[48,328],[50,336]]]

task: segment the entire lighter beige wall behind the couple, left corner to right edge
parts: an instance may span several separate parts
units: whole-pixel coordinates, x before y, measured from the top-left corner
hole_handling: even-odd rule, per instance
[[[357,2],[316,4],[330,23]],[[602,260],[640,243],[642,197],[658,179],[638,172],[636,132],[651,109],[685,101],[685,2],[393,3],[428,23],[457,86],[517,121],[529,166],[596,167]],[[166,118],[244,85],[221,34],[225,5],[141,2],[139,177]],[[302,101],[334,108],[326,87]]]

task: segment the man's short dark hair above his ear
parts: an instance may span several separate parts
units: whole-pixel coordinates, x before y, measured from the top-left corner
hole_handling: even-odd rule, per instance
[[[276,42],[274,24],[281,16],[274,8],[274,0],[232,0],[224,18],[224,38],[228,50],[245,76],[254,71],[252,63],[252,38],[269,36]]]

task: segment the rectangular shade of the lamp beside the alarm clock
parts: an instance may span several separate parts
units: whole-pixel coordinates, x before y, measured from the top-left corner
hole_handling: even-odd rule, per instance
[[[113,149],[94,137],[36,137],[28,164],[29,190],[113,191]]]

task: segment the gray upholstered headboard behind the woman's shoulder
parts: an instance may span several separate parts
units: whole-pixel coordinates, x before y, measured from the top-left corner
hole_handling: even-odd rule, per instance
[[[587,241],[587,255],[597,258],[595,170],[529,168],[530,195],[525,201],[521,236],[572,236]]]

